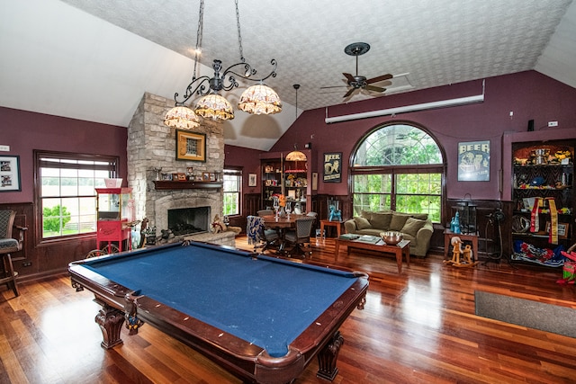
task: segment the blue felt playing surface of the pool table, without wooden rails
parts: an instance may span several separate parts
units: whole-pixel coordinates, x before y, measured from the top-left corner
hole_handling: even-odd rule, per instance
[[[130,256],[130,257],[129,257]],[[89,260],[85,268],[284,356],[357,281],[352,272],[193,244]]]

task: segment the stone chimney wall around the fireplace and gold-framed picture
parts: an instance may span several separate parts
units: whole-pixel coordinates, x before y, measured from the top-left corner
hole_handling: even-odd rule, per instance
[[[157,191],[153,181],[157,168],[162,173],[222,174],[224,169],[224,130],[220,123],[203,121],[194,132],[206,134],[206,162],[175,159],[175,129],[164,125],[166,112],[173,100],[154,94],[144,94],[128,126],[128,186],[132,188],[136,217],[148,218],[150,226],[167,228],[167,210],[174,208],[211,207],[211,216],[223,210],[223,192],[219,190],[184,189]],[[159,235],[159,233],[158,233]]]

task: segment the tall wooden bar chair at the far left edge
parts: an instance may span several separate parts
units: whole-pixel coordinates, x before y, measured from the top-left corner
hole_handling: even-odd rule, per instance
[[[4,277],[0,278],[0,284],[6,284],[8,287],[12,286],[14,295],[19,296],[20,292],[16,281],[18,272],[14,271],[10,254],[22,250],[24,231],[28,228],[14,226],[15,217],[16,212],[14,210],[0,210],[0,255],[2,255],[4,261]],[[13,228],[19,231],[18,239],[12,237]]]

